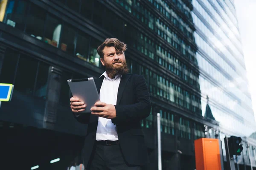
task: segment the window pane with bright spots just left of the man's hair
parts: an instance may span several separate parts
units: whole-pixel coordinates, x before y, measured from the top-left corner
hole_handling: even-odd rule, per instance
[[[89,63],[96,65],[97,67],[99,67],[99,54],[97,53],[97,48],[99,47],[99,45],[101,45],[102,43],[99,42],[98,40],[95,40],[94,38],[92,38],[91,44],[90,44],[90,56],[89,56]]]

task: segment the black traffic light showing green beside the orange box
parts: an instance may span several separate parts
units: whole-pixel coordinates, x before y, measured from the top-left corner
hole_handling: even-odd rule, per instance
[[[243,146],[241,144],[241,137],[230,136],[230,138],[228,138],[227,140],[230,157],[232,157],[233,155],[241,155],[241,152],[243,150]]]

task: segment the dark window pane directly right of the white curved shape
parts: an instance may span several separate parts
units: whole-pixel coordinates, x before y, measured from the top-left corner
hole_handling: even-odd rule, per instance
[[[63,27],[61,36],[61,50],[66,51],[70,55],[74,55],[75,50],[75,29],[67,24]]]

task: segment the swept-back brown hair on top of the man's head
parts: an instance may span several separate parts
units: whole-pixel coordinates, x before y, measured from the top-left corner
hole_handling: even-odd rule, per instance
[[[102,45],[99,45],[99,47],[97,48],[97,52],[99,54],[99,56],[101,58],[104,57],[104,54],[103,54],[103,49],[105,47],[115,47],[116,51],[126,51],[127,50],[127,47],[126,47],[126,44],[124,42],[121,42],[119,41],[118,39],[116,38],[107,38],[103,43]]]

